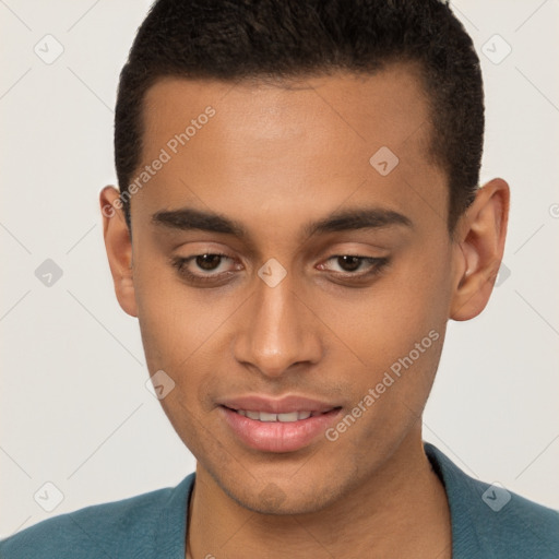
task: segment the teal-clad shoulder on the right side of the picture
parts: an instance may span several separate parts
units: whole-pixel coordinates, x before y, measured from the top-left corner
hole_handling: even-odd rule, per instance
[[[432,445],[426,452],[445,486],[454,544],[468,557],[559,557],[558,511],[472,478]]]

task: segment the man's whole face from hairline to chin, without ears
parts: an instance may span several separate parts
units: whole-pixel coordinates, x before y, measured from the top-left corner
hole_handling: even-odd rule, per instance
[[[237,502],[323,509],[420,440],[440,357],[455,247],[420,80],[167,79],[144,117],[120,299],[165,412]]]

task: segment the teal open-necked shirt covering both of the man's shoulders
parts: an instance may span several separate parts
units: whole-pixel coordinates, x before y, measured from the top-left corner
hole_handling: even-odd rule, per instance
[[[432,444],[425,451],[447,490],[453,559],[559,558],[559,512],[473,479]],[[0,542],[0,559],[185,559],[194,479],[40,522]]]

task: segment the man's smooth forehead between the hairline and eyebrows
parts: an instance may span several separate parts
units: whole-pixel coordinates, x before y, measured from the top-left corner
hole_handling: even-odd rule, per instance
[[[292,219],[308,217],[309,200],[319,216],[350,195],[406,210],[426,186],[445,195],[428,107],[412,64],[283,82],[165,78],[144,99],[140,168],[162,150],[168,163],[141,198],[152,212],[202,202],[235,213],[249,200]],[[397,163],[390,175],[371,164],[378,153]]]

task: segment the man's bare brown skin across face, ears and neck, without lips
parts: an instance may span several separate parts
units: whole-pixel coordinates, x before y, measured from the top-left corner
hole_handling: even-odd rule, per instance
[[[139,170],[209,105],[215,116],[133,195],[133,242],[122,212],[106,211],[118,206],[116,189],[100,194],[117,298],[139,319],[150,373],[175,381],[162,404],[197,457],[190,555],[450,558],[447,497],[420,418],[448,320],[476,317],[491,293],[507,183],[479,189],[449,235],[447,175],[429,155],[412,66],[288,84],[165,79],[146,94]],[[369,164],[383,145],[400,159],[384,177]],[[186,207],[235,219],[247,236],[153,222]],[[362,207],[409,225],[305,233]],[[216,252],[229,258],[214,272],[187,266],[222,274],[213,284],[173,265]],[[369,261],[352,272],[341,254],[388,263],[356,280]],[[275,287],[257,274],[271,258],[287,271]],[[261,452],[223,420],[221,399],[253,393],[314,397],[345,416],[430,331],[438,341],[335,441]]]

